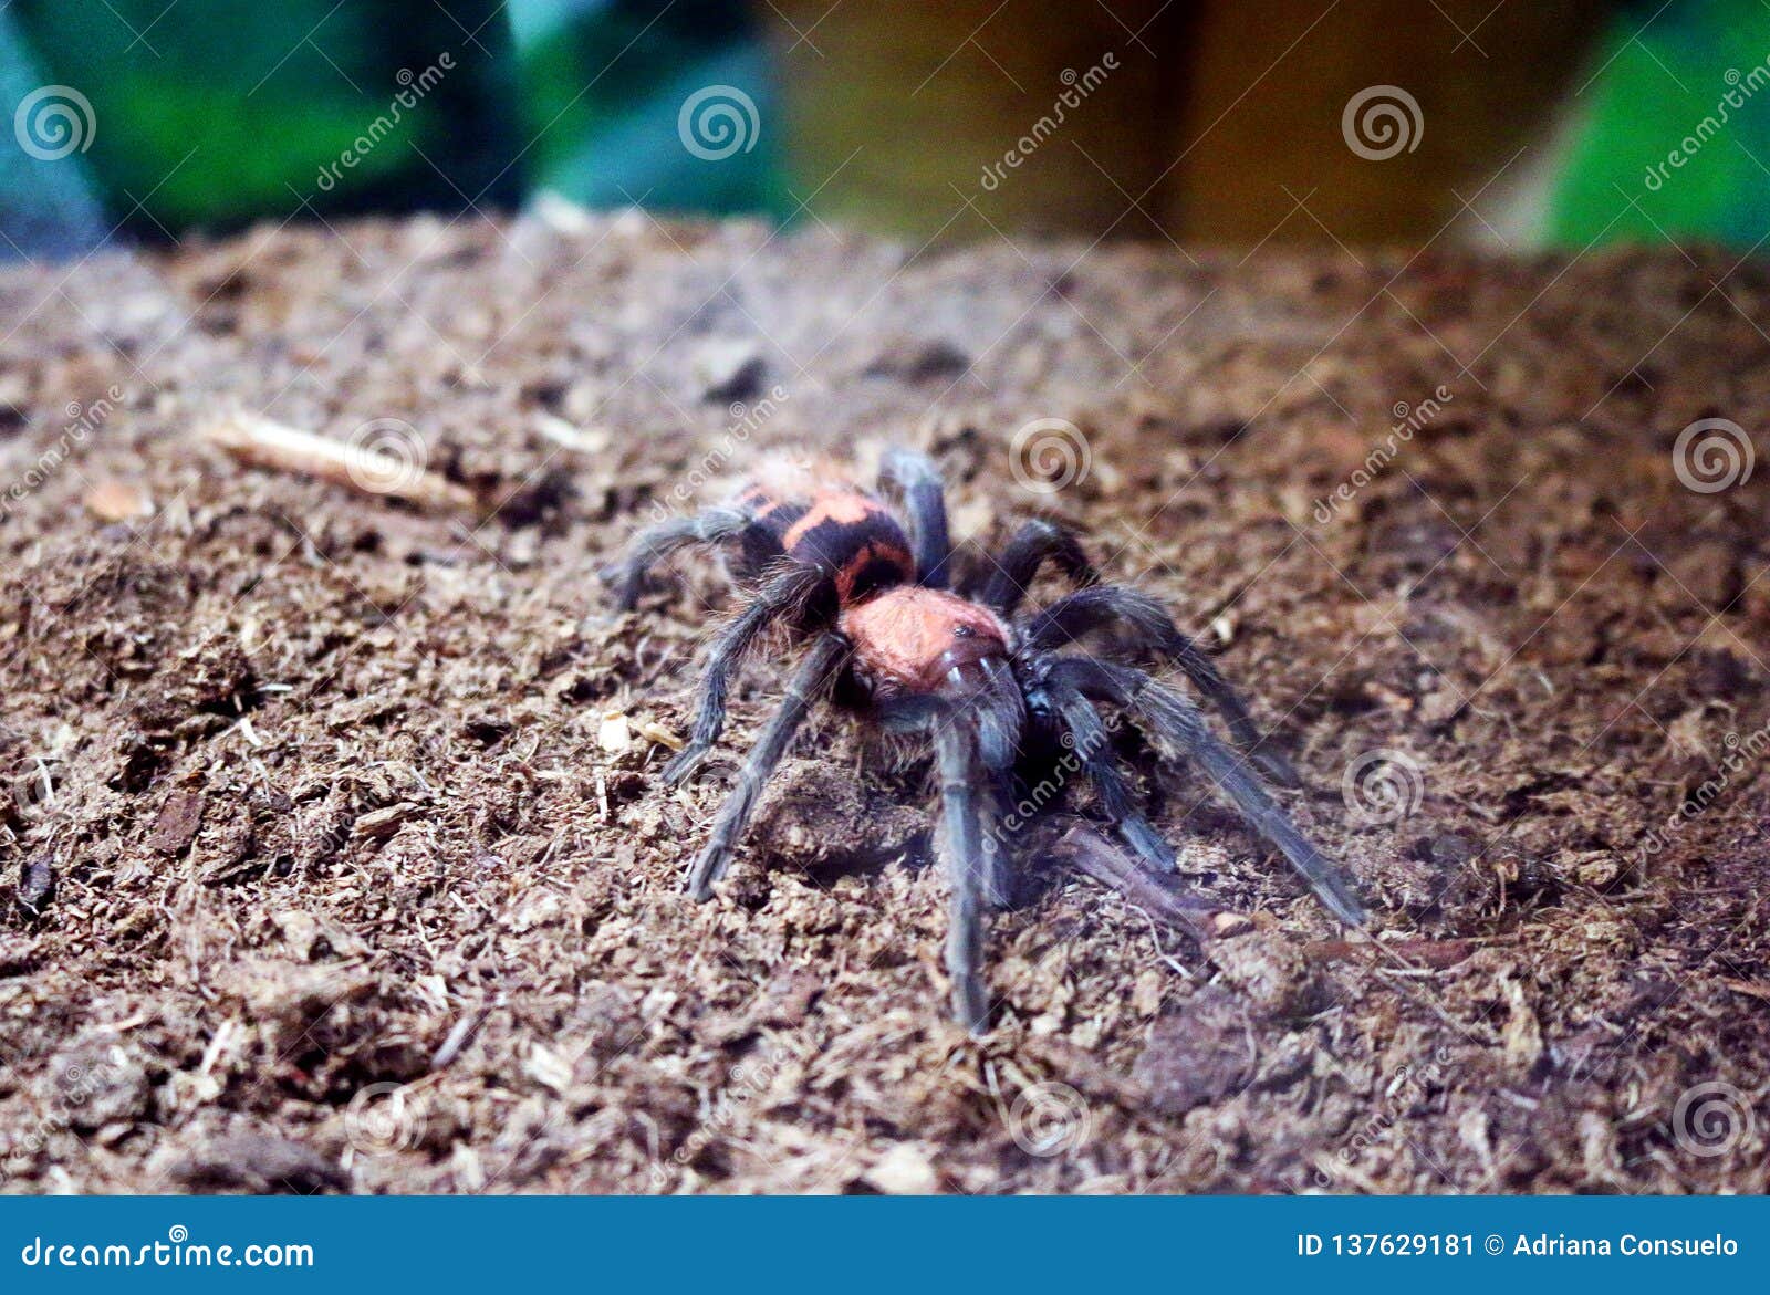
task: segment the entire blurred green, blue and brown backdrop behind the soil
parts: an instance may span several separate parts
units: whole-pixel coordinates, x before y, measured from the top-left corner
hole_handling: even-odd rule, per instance
[[[1345,147],[1365,87],[1411,147]],[[1770,232],[1763,0],[11,0],[0,101],[12,257],[538,191],[917,239]]]

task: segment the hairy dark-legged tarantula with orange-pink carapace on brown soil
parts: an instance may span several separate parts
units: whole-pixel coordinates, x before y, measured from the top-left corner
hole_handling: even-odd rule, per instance
[[[687,778],[719,739],[731,678],[763,630],[784,625],[809,640],[786,701],[763,727],[689,869],[696,899],[708,899],[726,874],[763,784],[816,702],[827,699],[889,734],[927,738],[940,777],[950,885],[945,964],[952,1012],[979,1033],[988,1021],[979,969],[984,906],[1009,899],[1005,849],[984,817],[1012,785],[1035,739],[1055,739],[1073,752],[1099,808],[1145,865],[1175,867],[1172,847],[1143,817],[1108,747],[1096,709],[1103,702],[1131,715],[1166,757],[1202,764],[1322,904],[1342,922],[1363,925],[1351,877],[1297,831],[1255,777],[1251,764],[1274,782],[1299,785],[1281,755],[1262,750],[1241,697],[1161,603],[1099,584],[1069,531],[1027,522],[982,579],[963,596],[949,593],[952,554],[940,474],[926,456],[899,449],[885,456],[876,494],[804,467],[779,469],[752,479],[722,508],[644,527],[602,573],[614,602],[632,610],[646,571],[687,545],[726,547],[731,573],[752,596],[712,642],[694,731],[666,766],[667,782]],[[1076,591],[1020,612],[1027,586],[1046,563]],[[1136,665],[1064,651],[1103,626],[1115,626],[1120,646],[1140,656],[1177,665],[1248,755],[1220,741],[1191,701]]]

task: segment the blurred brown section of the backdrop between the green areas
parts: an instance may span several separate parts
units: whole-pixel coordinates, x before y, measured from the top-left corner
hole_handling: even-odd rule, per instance
[[[828,180],[812,203],[820,214],[912,237],[1112,225],[1113,237],[1159,226],[1205,242],[1319,239],[1317,219],[1347,242],[1430,237],[1458,212],[1455,191],[1469,198],[1543,127],[1609,9],[1602,0],[775,5],[763,12],[784,58],[795,191]],[[1081,76],[1108,50],[1119,69],[986,191],[984,166],[1051,111],[1064,71]],[[1342,110],[1370,85],[1402,87],[1420,103],[1412,152],[1379,163],[1347,147]],[[1508,182],[1519,179],[1508,170]],[[966,196],[975,207],[961,209]]]

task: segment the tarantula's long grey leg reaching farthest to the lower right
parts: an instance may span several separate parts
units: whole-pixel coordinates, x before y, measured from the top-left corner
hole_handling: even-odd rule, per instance
[[[1310,883],[1335,916],[1351,927],[1365,925],[1365,906],[1358,899],[1352,877],[1297,831],[1285,810],[1266,794],[1246,761],[1212,736],[1198,708],[1186,697],[1163,688],[1143,670],[1129,665],[1076,656],[1058,660],[1051,667],[1051,676],[1080,688],[1083,695],[1136,713],[1165,747],[1197,759],[1248,824],[1278,846],[1290,867]]]

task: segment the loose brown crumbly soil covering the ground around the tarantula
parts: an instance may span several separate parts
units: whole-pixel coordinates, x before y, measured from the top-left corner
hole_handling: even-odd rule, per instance
[[[1674,472],[1694,419],[1770,426],[1761,269],[554,212],[0,303],[5,1187],[1765,1191],[1770,472]],[[400,419],[496,511],[239,465],[198,437],[230,409]],[[1087,437],[1055,494],[1011,471],[1034,419]],[[655,775],[729,600],[683,563],[618,617],[596,568],[703,474],[892,441],[965,536],[1069,518],[1179,610],[1381,946],[1129,732],[1182,883],[1243,916],[1200,943],[1064,867],[1074,794],[1020,842],[982,1042],[926,768],[835,716],[680,893],[731,766]],[[1349,812],[1349,770],[1411,812]]]

